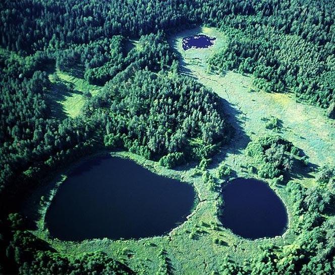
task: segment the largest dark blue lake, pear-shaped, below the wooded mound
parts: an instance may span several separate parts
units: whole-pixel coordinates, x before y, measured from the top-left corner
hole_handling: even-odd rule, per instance
[[[69,175],[45,218],[61,240],[158,236],[186,219],[194,198],[188,184],[131,160],[97,157]]]

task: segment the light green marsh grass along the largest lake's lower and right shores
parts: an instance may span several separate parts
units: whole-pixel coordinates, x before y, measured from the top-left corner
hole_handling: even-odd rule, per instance
[[[192,176],[194,168],[176,171],[161,167],[157,162],[145,160],[129,152],[113,153],[113,155],[131,158],[157,174],[174,177],[192,184],[199,200],[187,220],[174,228],[168,235],[162,237],[117,241],[105,238],[83,242],[65,242],[49,238],[47,228],[43,222],[46,207],[45,205],[39,206],[38,200],[35,200],[35,207],[40,208],[37,223],[39,228],[34,232],[35,235],[64,253],[78,254],[96,250],[104,251],[108,255],[126,263],[139,274],[154,274],[156,272],[159,265],[158,252],[161,248],[166,250],[167,257],[171,260],[173,273],[194,274],[198,272],[210,273],[212,270],[217,270],[217,262],[227,254],[232,255],[236,261],[248,257],[250,253],[255,255],[259,252],[259,245],[268,243],[267,239],[257,241],[244,240],[220,225],[216,214],[218,193],[210,191],[203,184],[200,176]],[[71,168],[63,174],[68,174],[70,171]],[[54,194],[54,188],[57,188],[57,182],[59,181],[55,180],[53,186],[50,185],[49,191],[46,192],[50,196],[49,199]],[[47,201],[49,200],[47,199]],[[216,224],[215,228],[212,227],[213,224]],[[193,239],[190,238],[191,233],[194,234]],[[225,245],[214,244],[213,240],[215,238],[225,241]],[[283,239],[277,237],[271,239],[271,242],[281,245]],[[133,256],[124,255],[125,250],[131,251]]]

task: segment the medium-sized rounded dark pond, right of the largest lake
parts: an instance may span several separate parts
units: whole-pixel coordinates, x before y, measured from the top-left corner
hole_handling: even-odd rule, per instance
[[[247,239],[282,235],[288,216],[282,200],[257,179],[236,178],[224,189],[220,220],[233,233]]]

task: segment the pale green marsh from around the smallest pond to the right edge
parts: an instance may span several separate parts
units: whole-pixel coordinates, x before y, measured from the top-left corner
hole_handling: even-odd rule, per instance
[[[190,49],[184,51],[180,41],[185,35],[198,32],[217,39],[208,49]],[[180,54],[181,70],[219,95],[226,112],[231,115],[231,121],[238,130],[234,142],[235,149],[227,148],[225,162],[234,169],[241,170],[240,164],[245,163],[245,155],[241,152],[250,139],[270,132],[265,128],[262,118],[276,117],[280,119],[282,128],[279,133],[302,149],[310,162],[321,166],[334,161],[335,155],[335,125],[324,116],[324,110],[319,107],[297,103],[293,94],[269,94],[255,91],[252,76],[242,75],[232,71],[217,74],[208,67],[206,60],[216,51],[225,47],[226,36],[214,28],[200,28],[180,33],[171,40],[173,47]],[[297,176],[304,185],[314,183],[313,174],[306,177]]]

